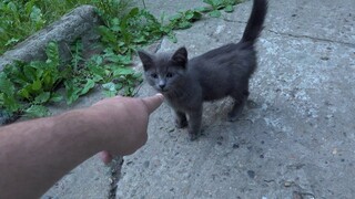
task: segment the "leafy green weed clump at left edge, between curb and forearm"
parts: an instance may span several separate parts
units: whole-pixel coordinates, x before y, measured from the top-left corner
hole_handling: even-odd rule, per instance
[[[45,53],[45,62],[16,62],[4,67],[0,73],[0,108],[10,115],[45,116],[48,111],[43,104],[61,101],[54,90],[67,73],[59,70],[58,46],[50,43]]]

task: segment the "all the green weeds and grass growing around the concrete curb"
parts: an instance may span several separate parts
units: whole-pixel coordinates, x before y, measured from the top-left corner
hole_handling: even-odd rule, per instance
[[[30,0],[0,2],[0,45],[11,48],[24,36],[42,29],[71,8],[91,3],[98,8],[104,24],[98,28],[104,50],[89,60],[82,57],[80,40],[71,45],[72,60],[61,66],[58,46],[49,43],[45,61],[16,62],[0,72],[0,109],[6,115],[39,117],[49,114],[45,105],[65,100],[74,103],[101,85],[106,96],[134,95],[142,75],[129,67],[138,48],[163,35],[176,41],[173,30],[187,29],[203,13],[220,17],[221,11],[233,11],[237,0],[204,0],[211,8],[178,12],[164,23],[144,9],[132,7],[129,0]],[[144,0],[143,3],[145,4]],[[51,15],[51,17],[50,17]],[[0,53],[4,49],[0,49]],[[64,97],[58,93],[64,87]]]

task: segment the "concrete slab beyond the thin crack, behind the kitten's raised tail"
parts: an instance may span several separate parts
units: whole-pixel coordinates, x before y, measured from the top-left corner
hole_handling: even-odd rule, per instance
[[[252,1],[237,7],[226,17],[231,21],[246,22]],[[266,29],[276,34],[313,40],[339,42],[354,46],[355,1],[270,1]]]

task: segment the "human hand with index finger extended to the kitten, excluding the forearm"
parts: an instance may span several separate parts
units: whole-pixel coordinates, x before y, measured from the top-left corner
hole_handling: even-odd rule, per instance
[[[112,160],[112,155],[130,155],[142,147],[148,139],[149,116],[163,103],[163,95],[144,98],[112,97],[94,104],[105,150],[100,153],[104,164]]]

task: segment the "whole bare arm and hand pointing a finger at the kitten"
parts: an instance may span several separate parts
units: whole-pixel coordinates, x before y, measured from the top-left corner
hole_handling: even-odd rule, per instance
[[[113,97],[88,108],[0,128],[0,198],[39,198],[99,151],[130,155],[146,139],[150,114],[163,96]]]

